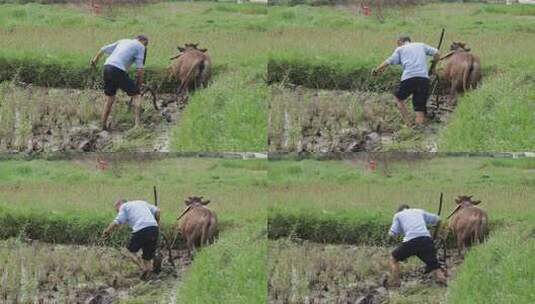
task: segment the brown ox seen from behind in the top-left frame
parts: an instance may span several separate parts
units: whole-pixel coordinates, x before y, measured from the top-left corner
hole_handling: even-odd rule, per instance
[[[184,96],[190,89],[206,87],[212,75],[212,62],[207,49],[198,49],[198,43],[186,43],[177,47],[180,54],[171,57],[170,72],[180,81],[177,95]]]

